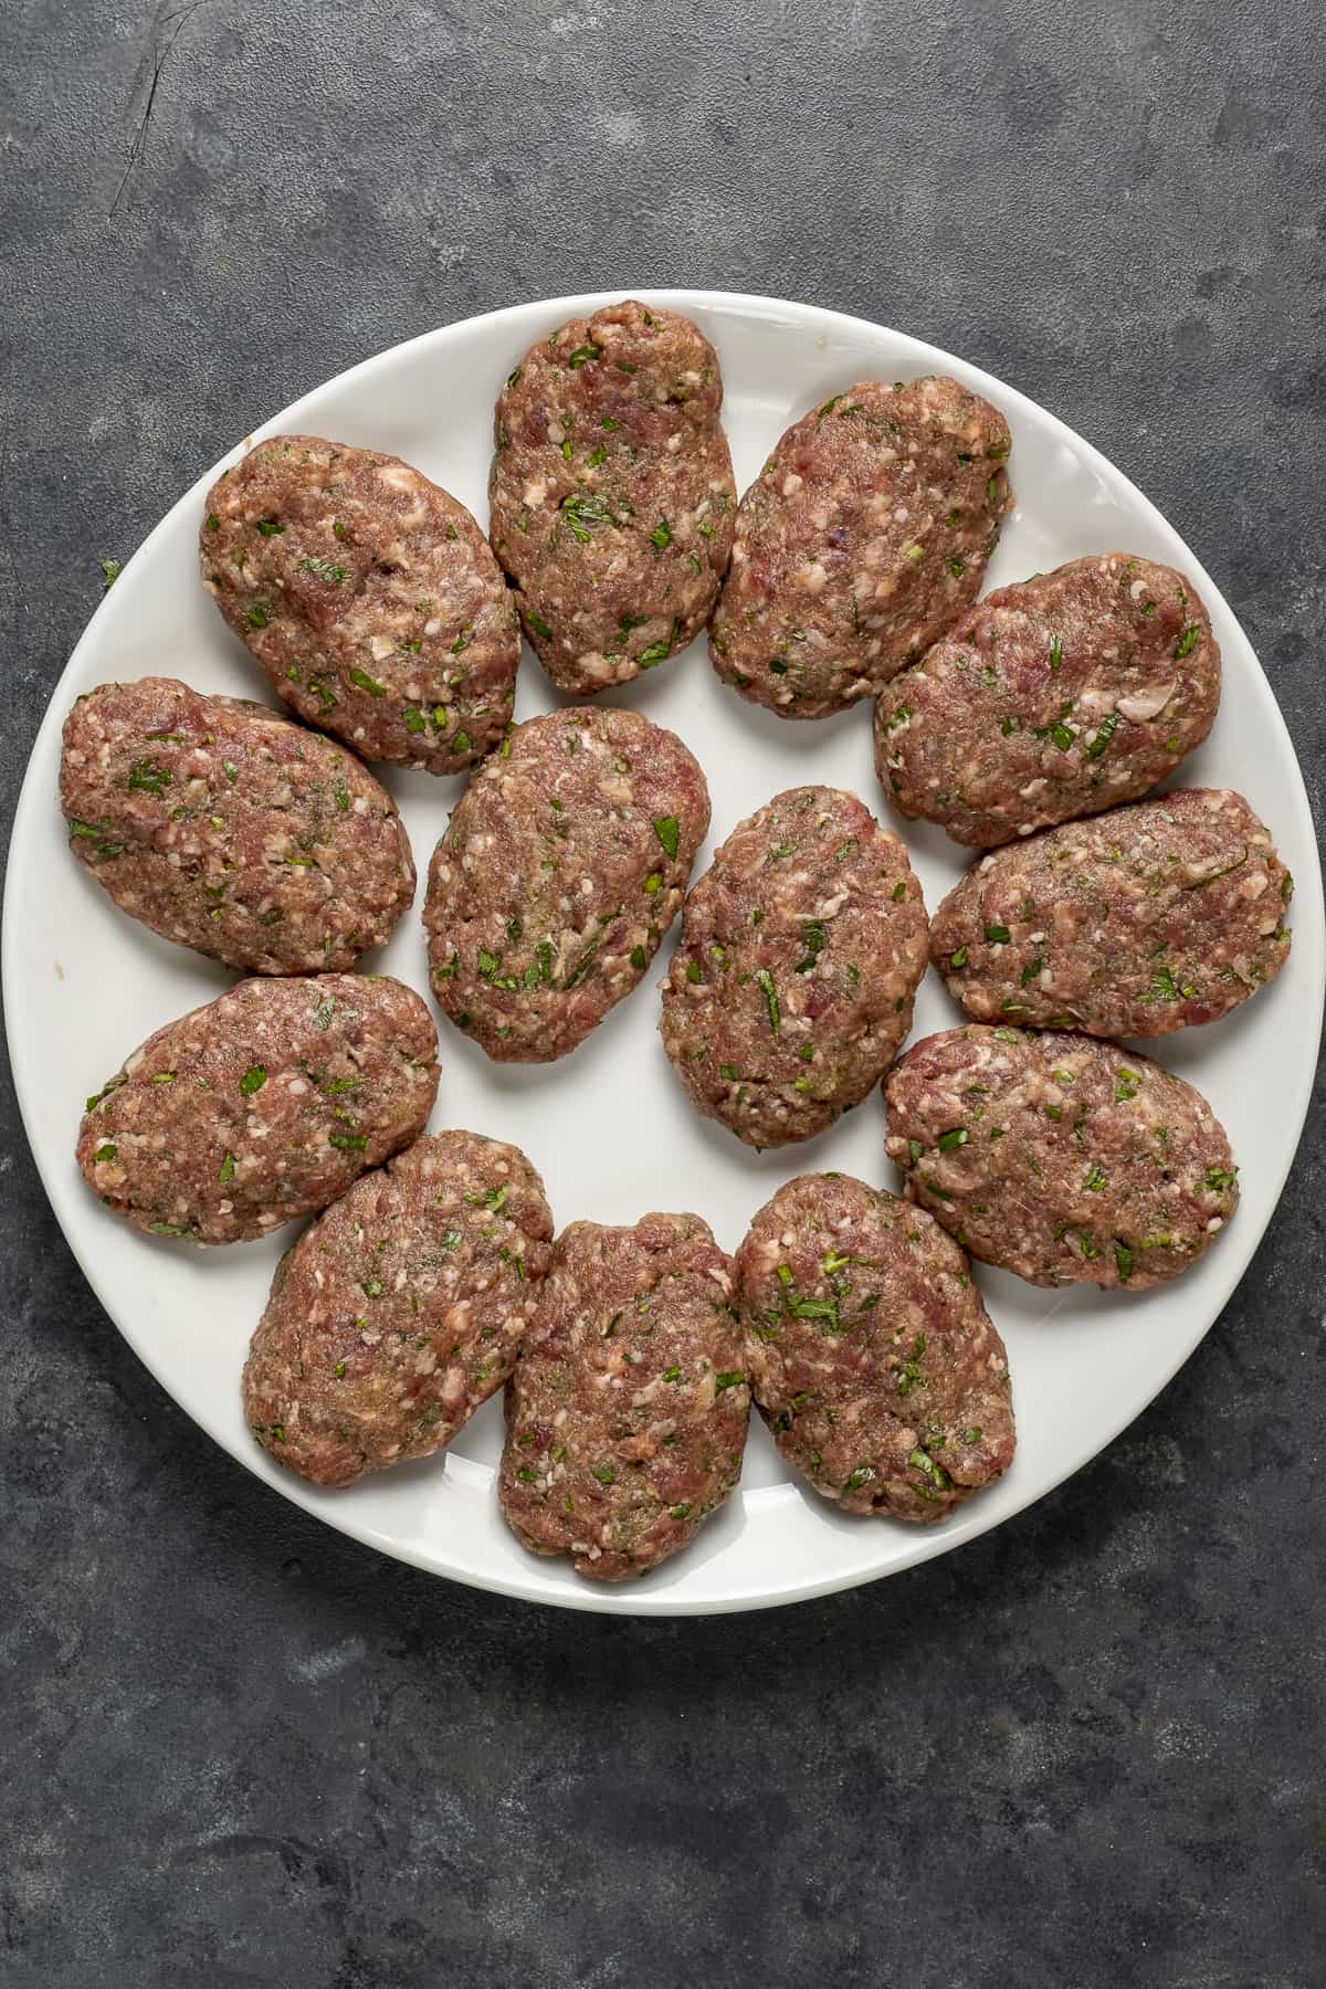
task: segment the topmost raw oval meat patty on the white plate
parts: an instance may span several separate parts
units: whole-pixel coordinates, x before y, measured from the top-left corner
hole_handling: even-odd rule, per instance
[[[501,390],[491,541],[561,690],[624,684],[710,619],[736,507],[722,402],[698,326],[636,302],[563,324]]]

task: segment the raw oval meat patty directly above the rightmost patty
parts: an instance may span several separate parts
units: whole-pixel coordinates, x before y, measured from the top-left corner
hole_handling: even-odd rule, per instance
[[[905,815],[986,849],[1155,788],[1219,702],[1221,652],[1191,583],[1105,553],[964,615],[879,700],[875,764]]]

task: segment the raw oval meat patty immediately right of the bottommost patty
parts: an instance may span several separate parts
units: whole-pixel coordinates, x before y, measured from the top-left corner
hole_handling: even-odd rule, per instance
[[[755,1215],[736,1303],[779,1452],[843,1512],[942,1520],[1012,1464],[1004,1343],[924,1209],[801,1174]]]

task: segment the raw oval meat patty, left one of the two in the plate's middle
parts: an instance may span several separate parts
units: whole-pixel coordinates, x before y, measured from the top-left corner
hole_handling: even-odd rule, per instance
[[[565,1056],[628,994],[710,825],[700,766],[638,712],[517,726],[433,851],[423,925],[437,1002],[489,1056]]]

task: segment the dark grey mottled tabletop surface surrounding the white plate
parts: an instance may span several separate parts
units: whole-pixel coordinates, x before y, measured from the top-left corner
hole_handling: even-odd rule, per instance
[[[1324,74],[1302,0],[8,0],[6,802],[97,559],[237,436],[640,282],[879,316],[1064,414],[1191,537],[1318,788]],[[270,1498],[99,1313],[8,1096],[0,1168],[6,1989],[1320,1989],[1306,1170],[1058,1496],[875,1589],[632,1625]]]

